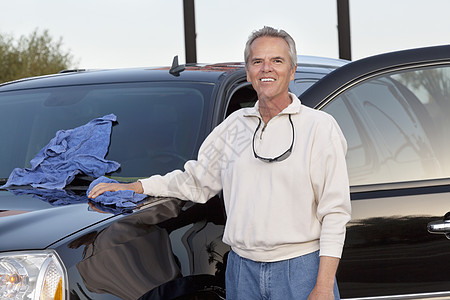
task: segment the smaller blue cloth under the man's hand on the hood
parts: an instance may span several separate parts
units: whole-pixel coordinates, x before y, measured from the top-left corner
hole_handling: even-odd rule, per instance
[[[116,181],[114,179],[110,179],[108,177],[101,176],[91,182],[91,184],[89,185],[89,188],[86,192],[86,195],[89,195],[89,192],[92,190],[92,188],[101,182],[118,183],[118,181]],[[116,191],[116,192],[104,192],[103,194],[97,196],[95,199],[90,199],[90,200],[101,203],[103,205],[115,205],[116,207],[132,208],[132,207],[136,207],[136,204],[138,202],[144,200],[146,197],[147,197],[147,195],[138,194],[131,190],[126,190],[126,191]]]

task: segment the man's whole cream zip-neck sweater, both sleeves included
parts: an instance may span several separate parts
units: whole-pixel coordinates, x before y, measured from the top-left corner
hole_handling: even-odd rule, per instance
[[[198,159],[185,171],[141,180],[144,193],[204,203],[223,190],[227,223],[223,241],[242,257],[279,261],[320,249],[340,257],[350,197],[347,144],[328,114],[292,103],[263,122],[254,139],[262,157],[277,157],[292,142],[290,157],[267,163],[256,159],[253,134],[261,118],[258,103],[231,114],[203,142]]]

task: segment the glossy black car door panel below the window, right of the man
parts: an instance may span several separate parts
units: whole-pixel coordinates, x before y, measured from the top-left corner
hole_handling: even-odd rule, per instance
[[[426,230],[430,220],[442,218],[450,187],[434,190],[353,194],[359,199],[352,201],[337,275],[343,298],[450,291],[450,243]]]

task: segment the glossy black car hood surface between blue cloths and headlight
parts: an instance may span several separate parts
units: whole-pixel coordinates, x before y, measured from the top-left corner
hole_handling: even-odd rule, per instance
[[[66,197],[68,195],[70,197]],[[0,190],[0,251],[44,249],[121,210],[99,209],[60,190]]]

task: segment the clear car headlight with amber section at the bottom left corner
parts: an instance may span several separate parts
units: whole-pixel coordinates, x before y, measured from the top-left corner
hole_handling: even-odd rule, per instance
[[[0,299],[66,299],[67,275],[55,251],[0,253]]]

